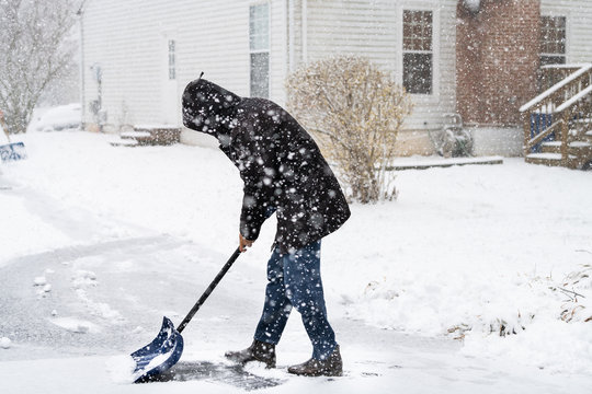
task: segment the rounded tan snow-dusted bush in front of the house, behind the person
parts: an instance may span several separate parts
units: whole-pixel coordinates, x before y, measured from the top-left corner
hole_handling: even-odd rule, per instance
[[[350,198],[396,196],[387,164],[411,102],[405,89],[368,59],[337,56],[312,62],[286,82],[287,106],[312,132]]]

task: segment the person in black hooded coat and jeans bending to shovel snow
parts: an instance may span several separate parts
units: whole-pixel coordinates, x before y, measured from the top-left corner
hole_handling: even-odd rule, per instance
[[[183,93],[186,127],[216,137],[244,183],[239,248],[258,239],[273,212],[277,231],[267,263],[263,314],[251,346],[229,351],[230,360],[275,367],[280,341],[292,308],[300,313],[312,344],[312,357],[288,372],[341,375],[342,360],[327,320],[320,277],[321,239],[350,217],[345,197],[319,148],[281,106],[247,99],[203,79]]]

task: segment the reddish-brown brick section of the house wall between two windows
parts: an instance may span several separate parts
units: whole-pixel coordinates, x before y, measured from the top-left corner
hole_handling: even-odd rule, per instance
[[[517,108],[537,93],[540,0],[459,0],[456,107],[465,124],[515,126]]]

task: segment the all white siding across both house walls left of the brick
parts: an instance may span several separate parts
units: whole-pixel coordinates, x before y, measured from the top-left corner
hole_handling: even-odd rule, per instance
[[[103,108],[114,130],[121,124],[180,125],[180,95],[201,71],[205,71],[205,78],[248,95],[249,5],[260,2],[88,1],[83,16],[86,105],[98,95],[89,69],[95,63],[102,68]],[[439,128],[441,114],[454,112],[454,0],[269,2],[272,100],[285,101],[284,80],[291,67],[337,53],[368,56],[400,81],[402,10],[429,9],[434,11],[435,19],[434,94],[413,96],[415,108],[406,127]],[[291,12],[292,37],[288,36]],[[177,44],[177,80],[172,85],[167,79],[169,38]],[[289,43],[293,48],[288,47]],[[177,115],[171,116],[171,112]],[[88,111],[84,120],[93,123]]]

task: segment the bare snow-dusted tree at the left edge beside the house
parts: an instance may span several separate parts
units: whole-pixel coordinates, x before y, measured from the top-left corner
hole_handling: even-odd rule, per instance
[[[0,0],[0,109],[11,134],[25,132],[33,108],[65,72],[75,0]]]

